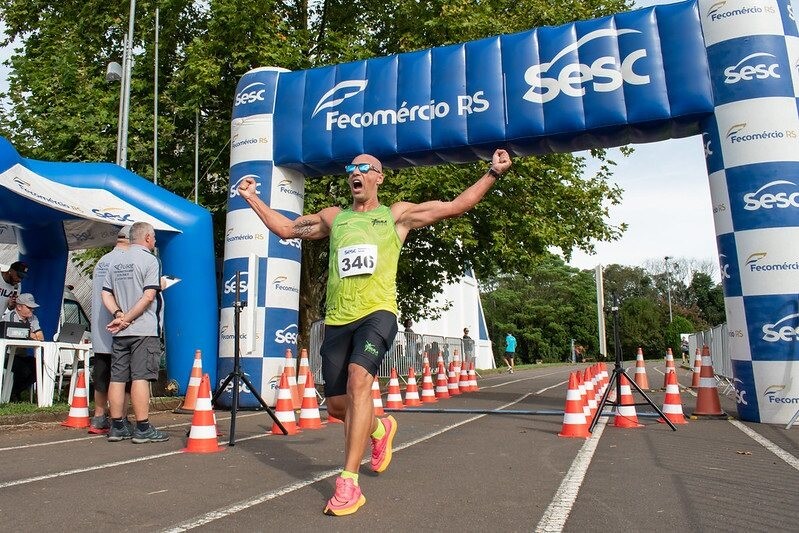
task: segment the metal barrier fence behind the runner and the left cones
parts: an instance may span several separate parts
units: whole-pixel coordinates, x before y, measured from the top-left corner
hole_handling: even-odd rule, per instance
[[[325,327],[322,320],[318,320],[311,325],[311,334],[308,364],[314,375],[314,382],[324,383],[322,377],[322,356],[319,350],[322,347]],[[464,342],[457,337],[442,337],[439,335],[424,335],[418,333],[406,333],[400,331],[394,338],[391,348],[380,365],[377,376],[388,378],[391,376],[391,369],[396,368],[397,374],[407,376],[408,369],[413,367],[416,371],[421,371],[424,363],[424,354],[427,353],[430,365],[435,368],[439,356],[445,365],[454,361],[456,355],[462,360],[471,362],[474,359],[474,341]],[[421,381],[421,378],[419,379]]]

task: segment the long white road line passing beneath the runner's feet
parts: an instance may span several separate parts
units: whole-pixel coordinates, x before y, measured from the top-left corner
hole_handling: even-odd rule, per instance
[[[498,407],[497,409],[505,409],[507,407],[510,407],[511,405],[515,405],[515,404],[519,403],[520,401],[524,400],[525,398],[527,398],[528,396],[531,396],[532,394],[533,393],[527,393],[527,394],[521,396],[519,399],[517,399],[517,400],[515,400],[513,402],[510,402],[510,403],[507,403],[507,404],[505,404],[505,405],[503,405],[501,407]],[[452,425],[443,427],[443,428],[441,428],[441,429],[439,429],[437,431],[434,431],[432,433],[428,433],[427,435],[419,437],[418,439],[405,442],[405,443],[400,444],[397,447],[395,447],[394,448],[394,452],[398,452],[398,451],[404,450],[406,448],[410,448],[411,446],[415,446],[416,444],[419,444],[419,443],[424,442],[426,440],[432,439],[433,437],[437,437],[438,435],[446,433],[447,431],[453,430],[453,429],[455,429],[457,427],[463,426],[464,424],[469,424],[471,422],[474,422],[475,420],[479,420],[479,419],[483,418],[484,416],[488,416],[488,415],[482,414],[482,415],[473,416],[471,418],[467,418],[466,420],[458,422],[457,424],[452,424]],[[363,461],[361,461],[361,464],[365,464],[366,461],[367,460],[364,459]],[[227,516],[233,515],[235,513],[240,512],[240,511],[245,511],[245,510],[249,509],[250,507],[254,507],[256,505],[260,505],[260,504],[262,504],[264,502],[268,502],[269,500],[274,500],[275,498],[278,498],[280,496],[285,496],[286,494],[289,494],[291,492],[294,492],[294,491],[300,490],[302,488],[305,488],[308,485],[312,485],[313,483],[316,483],[318,481],[322,481],[323,479],[327,479],[329,477],[337,476],[337,475],[339,475],[339,473],[341,473],[341,468],[336,468],[335,470],[326,470],[324,472],[320,472],[319,474],[315,475],[312,478],[305,479],[305,480],[299,481],[297,483],[292,483],[291,485],[286,485],[286,486],[281,487],[281,488],[279,488],[277,490],[274,490],[274,491],[270,491],[270,492],[265,492],[263,494],[259,494],[258,496],[255,496],[254,498],[243,500],[243,501],[234,503],[234,504],[232,504],[230,506],[216,509],[215,511],[210,511],[210,512],[208,512],[208,513],[206,513],[204,515],[200,515],[200,516],[198,516],[196,518],[191,518],[191,519],[189,519],[189,520],[187,520],[185,522],[181,522],[180,524],[174,525],[174,526],[170,527],[169,529],[164,529],[162,533],[178,533],[178,532],[181,532],[181,531],[188,531],[190,529],[194,529],[194,528],[197,528],[197,527],[200,527],[200,526],[204,526],[205,524],[209,524],[209,523],[211,523],[211,522],[213,522],[215,520],[219,520],[221,518],[225,518]]]

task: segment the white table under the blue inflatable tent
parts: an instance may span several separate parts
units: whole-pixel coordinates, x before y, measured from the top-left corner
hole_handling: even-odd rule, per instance
[[[61,361],[70,358],[72,361],[73,378],[77,376],[78,362],[83,361],[83,370],[86,377],[86,390],[89,390],[89,361],[92,354],[92,345],[68,342],[43,342],[32,340],[0,339],[0,354],[5,355],[9,348],[33,348],[36,358],[36,399],[39,407],[53,405],[56,378],[58,377]],[[14,363],[15,351],[8,354],[8,366],[4,368],[5,357],[0,357],[0,403],[7,403],[11,398],[11,387],[14,376],[11,367]],[[70,380],[69,403],[75,392],[77,379]]]

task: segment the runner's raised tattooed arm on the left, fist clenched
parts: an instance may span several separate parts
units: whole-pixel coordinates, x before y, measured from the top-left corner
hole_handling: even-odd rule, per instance
[[[338,207],[327,207],[313,215],[303,215],[294,220],[266,205],[255,192],[256,183],[245,178],[239,185],[239,195],[255,211],[264,225],[282,239],[323,239],[330,235]]]

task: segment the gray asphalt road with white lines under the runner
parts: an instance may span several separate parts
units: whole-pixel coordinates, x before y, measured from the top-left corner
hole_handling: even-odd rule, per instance
[[[473,412],[398,412],[394,460],[368,465],[366,505],[349,517],[322,508],[343,461],[343,426],[271,435],[262,412],[217,412],[224,450],[180,450],[191,415],[161,413],[166,443],[106,442],[57,424],[0,432],[0,524],[6,531],[796,531],[799,427],[696,420],[671,431],[603,418],[590,439],[560,438],[572,367],[479,381],[432,404]],[[663,366],[649,362],[650,384]],[[632,375],[632,374],[630,374]],[[690,373],[678,370],[681,385]],[[651,394],[662,406],[663,392]],[[689,414],[695,397],[682,394]],[[636,398],[640,400],[640,398]],[[734,398],[721,396],[735,413]],[[639,415],[649,411],[639,407]],[[324,415],[323,415],[324,418]],[[368,457],[365,457],[365,460]]]

